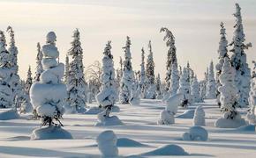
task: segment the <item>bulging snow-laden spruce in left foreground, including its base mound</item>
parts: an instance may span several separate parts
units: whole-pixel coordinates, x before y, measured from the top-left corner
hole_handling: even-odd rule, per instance
[[[47,34],[42,53],[44,71],[41,73],[40,82],[32,84],[30,98],[41,118],[41,126],[48,127],[35,129],[31,140],[72,139],[72,135],[61,128],[63,125],[59,120],[64,114],[66,86],[61,81],[64,76],[64,64],[56,61],[59,52],[56,48],[55,32]]]

